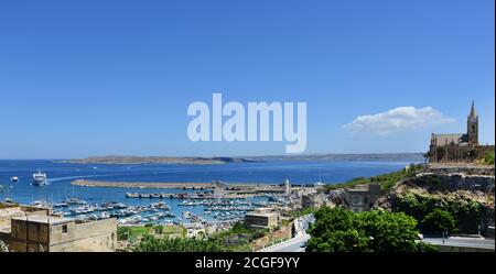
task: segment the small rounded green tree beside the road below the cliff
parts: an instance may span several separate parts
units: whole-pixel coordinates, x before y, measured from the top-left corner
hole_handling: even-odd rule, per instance
[[[456,222],[449,211],[435,208],[423,218],[421,230],[424,233],[441,234],[443,231],[455,231]]]

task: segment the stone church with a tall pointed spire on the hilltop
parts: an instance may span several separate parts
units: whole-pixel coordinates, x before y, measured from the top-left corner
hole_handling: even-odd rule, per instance
[[[478,143],[478,116],[472,101],[471,113],[466,120],[466,133],[432,133],[428,156],[430,163],[468,163],[484,157],[488,151],[494,151],[494,145]]]

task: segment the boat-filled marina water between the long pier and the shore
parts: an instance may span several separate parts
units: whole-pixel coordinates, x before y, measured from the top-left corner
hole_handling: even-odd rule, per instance
[[[88,202],[78,198],[68,198],[60,202],[34,200],[30,206],[53,208],[54,215],[76,220],[101,220],[117,218],[120,224],[187,224],[218,223],[242,220],[246,212],[268,206],[284,206],[270,197],[249,199],[182,199],[170,201],[148,201],[131,205],[118,201]]]

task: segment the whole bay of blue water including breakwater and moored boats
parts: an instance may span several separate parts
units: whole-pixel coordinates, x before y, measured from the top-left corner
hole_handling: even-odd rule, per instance
[[[57,215],[79,220],[117,218],[121,226],[218,223],[222,227],[241,220],[255,208],[283,207],[281,184],[287,178],[293,186],[317,180],[342,182],[402,166],[403,162],[106,165],[0,161],[0,200],[48,206]],[[22,179],[31,178],[39,169],[45,174],[43,187]],[[12,182],[13,176],[21,179]],[[220,186],[217,193],[216,185]]]

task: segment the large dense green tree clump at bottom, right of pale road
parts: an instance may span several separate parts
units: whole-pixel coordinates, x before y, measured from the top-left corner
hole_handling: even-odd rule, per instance
[[[309,230],[309,252],[412,252],[430,251],[418,243],[417,220],[402,212],[382,210],[354,213],[322,208]]]

